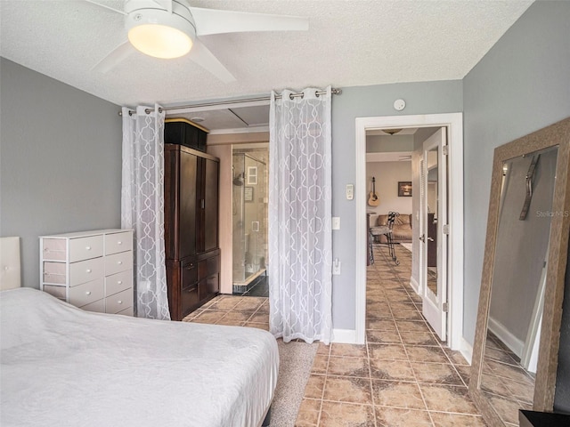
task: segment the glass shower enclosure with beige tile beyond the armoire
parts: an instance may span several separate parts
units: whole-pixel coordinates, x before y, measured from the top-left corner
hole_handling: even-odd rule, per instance
[[[233,151],[233,292],[265,273],[267,260],[268,151]]]

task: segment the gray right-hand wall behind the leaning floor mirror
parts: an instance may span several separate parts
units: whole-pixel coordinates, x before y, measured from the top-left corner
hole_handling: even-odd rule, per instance
[[[463,79],[465,339],[475,336],[493,149],[570,116],[570,2],[536,2]]]

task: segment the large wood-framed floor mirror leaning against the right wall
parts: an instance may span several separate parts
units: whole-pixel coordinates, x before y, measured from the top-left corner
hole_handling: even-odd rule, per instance
[[[570,225],[570,117],[494,151],[469,394],[492,427],[551,412]]]

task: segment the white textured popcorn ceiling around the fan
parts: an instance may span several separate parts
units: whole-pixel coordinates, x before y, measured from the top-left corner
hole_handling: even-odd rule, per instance
[[[223,84],[187,58],[135,52],[106,74],[126,39],[122,15],[84,0],[0,0],[0,53],[87,93],[136,105],[243,97],[305,86],[461,79],[533,2],[528,0],[190,0],[193,6],[309,18],[309,31],[200,39],[237,77]],[[124,2],[101,0],[122,9]]]

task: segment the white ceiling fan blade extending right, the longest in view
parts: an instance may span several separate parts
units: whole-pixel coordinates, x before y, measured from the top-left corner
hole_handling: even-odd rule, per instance
[[[241,33],[247,31],[306,31],[309,19],[302,16],[232,12],[189,6],[196,21],[196,34]]]

